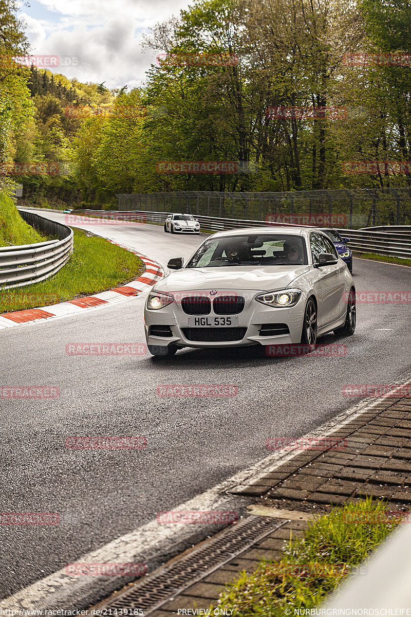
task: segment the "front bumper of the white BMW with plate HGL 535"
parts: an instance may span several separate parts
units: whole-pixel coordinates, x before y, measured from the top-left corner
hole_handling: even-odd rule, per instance
[[[147,345],[243,347],[256,344],[266,346],[279,343],[299,343],[301,341],[306,304],[304,292],[301,293],[298,302],[292,307],[274,308],[256,301],[255,298],[261,296],[261,291],[253,289],[224,291],[224,293],[217,291],[214,296],[210,295],[210,291],[212,290],[202,289],[171,294],[174,297],[174,302],[163,307],[163,309],[150,310],[146,306],[144,323]],[[224,304],[224,297],[229,294],[238,299],[238,304],[232,300],[230,300],[230,304]],[[193,314],[193,311],[198,310],[198,308],[195,303],[192,305],[187,300],[188,297],[193,296],[210,299],[210,312],[206,315]],[[216,299],[218,300],[214,305]],[[190,313],[187,313],[187,310]],[[222,317],[234,317],[235,325],[214,327],[214,318],[224,323],[224,320],[221,320]],[[201,318],[203,321],[201,321]],[[212,325],[201,327],[200,323]]]

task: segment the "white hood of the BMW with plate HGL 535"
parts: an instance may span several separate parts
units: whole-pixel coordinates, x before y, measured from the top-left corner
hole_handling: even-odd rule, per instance
[[[217,268],[187,268],[172,272],[156,284],[157,291],[192,291],[198,289],[255,289],[275,291],[285,289],[309,266],[227,266]]]

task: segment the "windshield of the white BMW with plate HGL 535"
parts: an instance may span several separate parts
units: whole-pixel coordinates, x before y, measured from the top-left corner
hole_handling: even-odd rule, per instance
[[[301,236],[253,234],[207,240],[198,247],[187,268],[307,263],[306,244]]]

